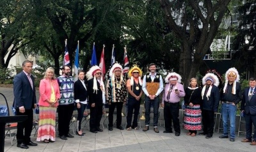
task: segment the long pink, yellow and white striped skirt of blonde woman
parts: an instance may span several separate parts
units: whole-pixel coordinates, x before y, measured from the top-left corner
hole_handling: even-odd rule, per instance
[[[39,106],[37,141],[55,141],[56,107]]]

